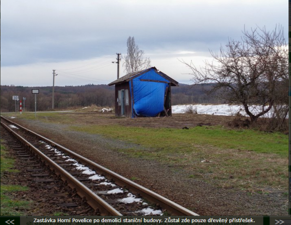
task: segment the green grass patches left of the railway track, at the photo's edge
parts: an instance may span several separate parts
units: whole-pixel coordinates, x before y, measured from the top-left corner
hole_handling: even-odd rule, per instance
[[[14,160],[7,157],[7,152],[5,147],[2,145],[1,141],[1,178],[4,173],[18,173],[19,171],[13,169]],[[21,209],[25,209],[29,206],[30,202],[21,201],[21,200],[13,200],[10,195],[12,192],[26,191],[27,187],[19,186],[19,185],[2,185],[0,188],[0,197],[1,197],[1,216],[13,215],[19,216],[23,215],[19,212]]]

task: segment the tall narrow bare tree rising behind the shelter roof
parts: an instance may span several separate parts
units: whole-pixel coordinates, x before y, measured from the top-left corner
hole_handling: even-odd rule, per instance
[[[135,44],[134,37],[129,36],[127,40],[127,48],[127,55],[123,57],[123,66],[125,67],[124,71],[127,74],[151,66],[150,59],[144,58],[145,52],[139,49],[139,46]]]

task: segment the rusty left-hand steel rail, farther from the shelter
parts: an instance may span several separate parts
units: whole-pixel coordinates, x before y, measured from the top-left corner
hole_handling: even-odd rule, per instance
[[[92,192],[89,188],[87,188],[84,184],[82,184],[79,180],[70,175],[65,169],[57,165],[48,156],[42,153],[40,150],[35,148],[31,143],[29,143],[26,139],[16,134],[12,129],[10,129],[6,124],[1,122],[1,125],[12,134],[22,145],[24,148],[32,150],[33,153],[37,155],[39,159],[41,159],[46,165],[49,166],[50,170],[52,170],[56,175],[60,176],[61,179],[68,184],[68,186],[76,190],[76,193],[82,198],[85,199],[86,202],[94,209],[99,210],[101,215],[105,216],[122,216],[120,212],[115,210],[111,205],[105,202],[102,198]]]

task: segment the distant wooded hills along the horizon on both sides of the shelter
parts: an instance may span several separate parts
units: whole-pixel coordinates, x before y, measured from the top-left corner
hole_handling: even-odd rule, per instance
[[[179,87],[172,87],[172,105],[194,104],[194,103],[224,103],[222,100],[207,96],[204,90],[211,87],[179,84]],[[37,110],[51,110],[52,87],[22,87],[22,86],[0,86],[0,108],[1,112],[14,112],[15,101],[12,96],[17,95],[20,100],[26,98],[25,110],[34,111],[34,94],[32,89],[39,89],[37,94]],[[114,87],[108,85],[83,85],[55,87],[54,97],[55,109],[68,109],[84,107],[95,104],[100,107],[114,106]],[[23,100],[22,100],[23,102]],[[19,104],[19,103],[18,103]],[[24,105],[25,104],[25,105]]]

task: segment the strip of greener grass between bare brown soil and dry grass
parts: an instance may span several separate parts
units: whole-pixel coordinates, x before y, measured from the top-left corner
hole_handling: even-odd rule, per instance
[[[288,155],[288,136],[254,130],[232,130],[221,126],[196,126],[191,129],[152,129],[124,126],[71,126],[71,129],[126,140],[158,150],[189,152],[194,145],[223,149],[250,150]]]

